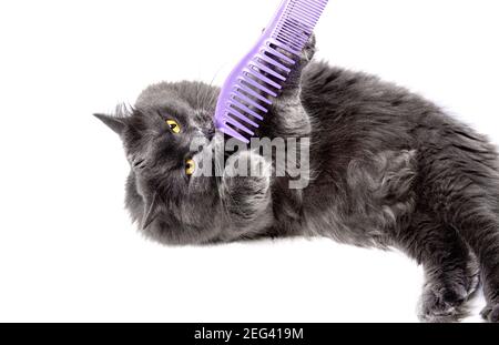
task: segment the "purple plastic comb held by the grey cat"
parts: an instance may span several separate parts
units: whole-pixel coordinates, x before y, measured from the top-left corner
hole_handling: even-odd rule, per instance
[[[215,110],[215,126],[248,143],[276,98],[328,0],[283,0],[258,42],[231,72]]]

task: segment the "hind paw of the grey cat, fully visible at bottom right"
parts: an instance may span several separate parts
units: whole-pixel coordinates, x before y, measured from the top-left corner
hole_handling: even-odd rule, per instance
[[[467,315],[468,292],[461,285],[427,287],[420,298],[419,319],[427,323],[457,322]]]

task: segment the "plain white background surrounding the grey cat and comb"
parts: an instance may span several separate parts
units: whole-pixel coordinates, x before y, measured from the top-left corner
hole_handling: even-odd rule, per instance
[[[162,80],[220,84],[277,3],[0,2],[0,321],[417,321],[421,270],[403,254],[166,247],[123,209],[128,163],[91,114]],[[407,85],[499,143],[498,14],[495,0],[330,0],[318,58]]]

